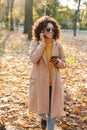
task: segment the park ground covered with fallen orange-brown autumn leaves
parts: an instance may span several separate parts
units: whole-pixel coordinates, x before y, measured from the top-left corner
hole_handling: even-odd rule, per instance
[[[67,68],[61,70],[66,117],[55,130],[87,130],[87,39],[62,37]],[[0,32],[0,128],[41,130],[40,117],[28,113],[32,63],[29,41],[21,32]]]

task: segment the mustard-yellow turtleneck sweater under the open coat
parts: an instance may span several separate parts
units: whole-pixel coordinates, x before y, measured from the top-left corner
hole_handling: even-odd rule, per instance
[[[46,48],[45,48],[45,53],[47,57],[47,63],[48,63],[48,69],[49,69],[49,86],[52,86],[52,63],[50,62],[50,58],[52,56],[52,44],[53,41],[52,39],[45,38],[45,43],[46,43]]]

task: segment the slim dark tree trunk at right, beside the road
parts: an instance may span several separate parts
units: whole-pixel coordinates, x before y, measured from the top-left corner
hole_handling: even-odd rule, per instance
[[[77,21],[78,21],[78,18],[79,18],[79,11],[80,11],[80,3],[81,3],[81,0],[78,1],[78,8],[77,10],[75,11],[75,17],[74,17],[74,36],[76,36],[76,31],[77,31]]]

